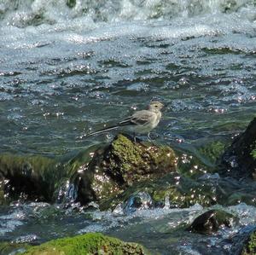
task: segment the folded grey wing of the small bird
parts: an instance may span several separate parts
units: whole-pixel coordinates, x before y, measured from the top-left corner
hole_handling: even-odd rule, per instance
[[[119,122],[119,125],[131,124],[131,125],[146,125],[151,119],[155,118],[155,113],[147,110],[138,111],[133,113],[131,117]]]

